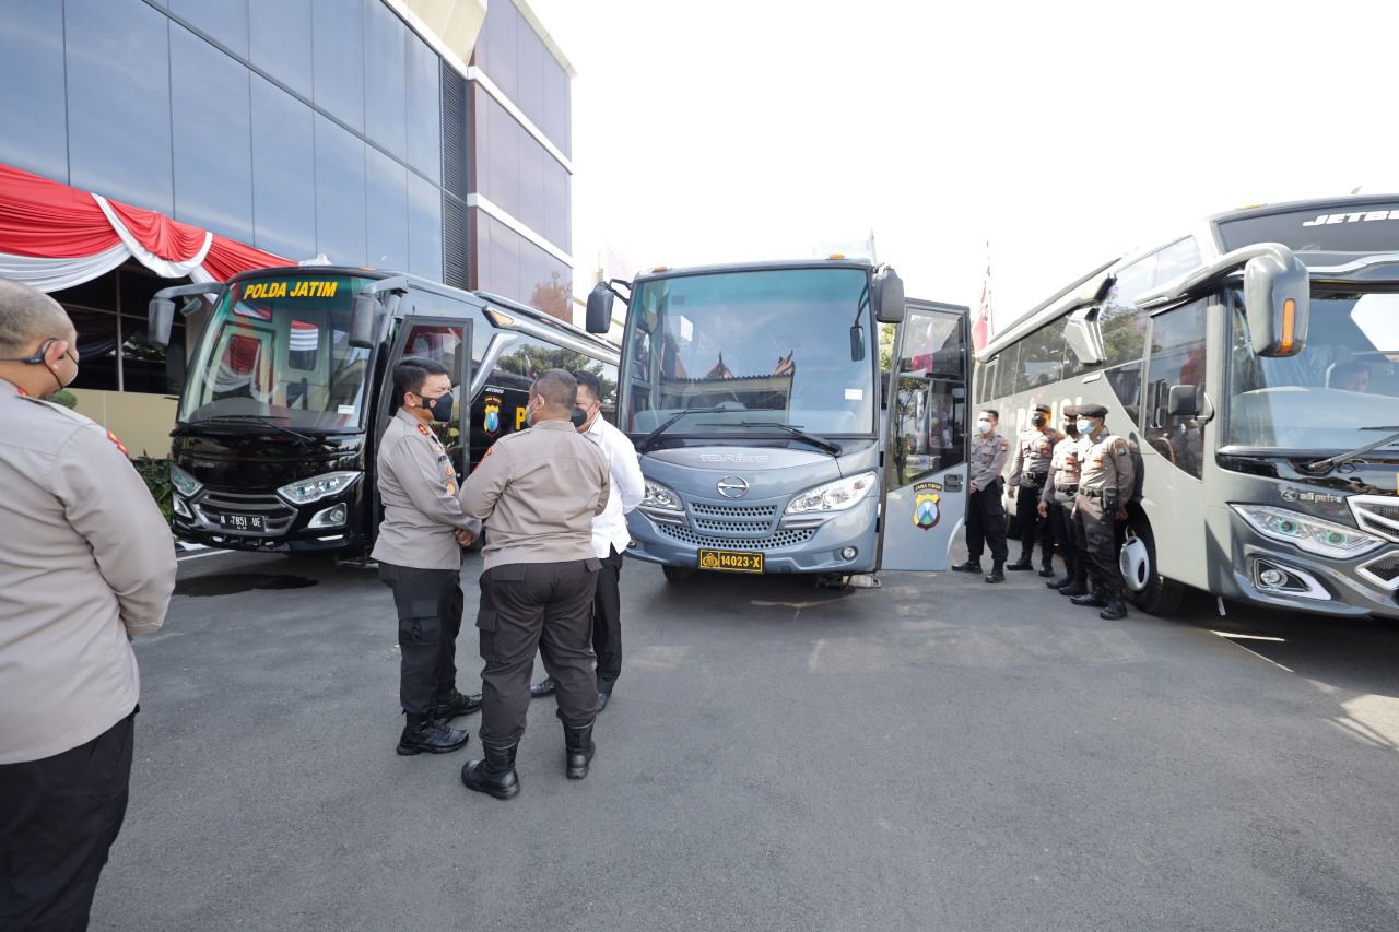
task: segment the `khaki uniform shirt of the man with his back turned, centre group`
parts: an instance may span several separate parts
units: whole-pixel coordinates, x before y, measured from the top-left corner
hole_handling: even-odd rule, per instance
[[[607,508],[607,458],[567,420],[495,441],[462,483],[462,509],[485,522],[484,568],[596,560],[593,518]]]

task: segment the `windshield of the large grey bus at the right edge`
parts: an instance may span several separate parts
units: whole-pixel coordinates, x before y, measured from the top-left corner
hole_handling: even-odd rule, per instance
[[[1240,312],[1233,350],[1230,446],[1336,452],[1399,424],[1399,294],[1314,294],[1307,346],[1286,358],[1254,355]]]

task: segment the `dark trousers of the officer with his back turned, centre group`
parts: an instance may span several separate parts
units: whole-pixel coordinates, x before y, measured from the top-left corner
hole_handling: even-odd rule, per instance
[[[481,740],[513,744],[525,735],[534,652],[558,683],[558,718],[582,728],[597,715],[592,648],[596,558],[509,563],[481,574]]]

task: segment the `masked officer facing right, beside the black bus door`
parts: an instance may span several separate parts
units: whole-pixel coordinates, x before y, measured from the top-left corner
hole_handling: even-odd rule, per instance
[[[480,533],[481,522],[463,514],[456,469],[428,427],[452,420],[446,367],[404,358],[393,368],[393,399],[399,410],[379,441],[383,523],[372,557],[399,613],[399,701],[407,723],[397,751],[445,754],[470,737],[448,722],[480,708],[480,697],[456,689],[456,635],[462,543]]]

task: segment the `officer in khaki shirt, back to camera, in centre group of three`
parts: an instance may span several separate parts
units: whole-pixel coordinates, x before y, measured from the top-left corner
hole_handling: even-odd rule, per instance
[[[582,779],[593,757],[597,682],[593,665],[593,595],[602,563],[593,553],[593,518],[609,500],[607,458],[569,416],[578,382],[544,372],[529,392],[529,430],[495,441],[462,483],[466,514],[490,535],[481,572],[481,746],[484,760],[462,768],[467,789],[509,799],[519,793],[515,751],[525,735],[534,652],[558,687],[565,775]]]

